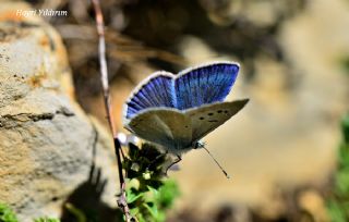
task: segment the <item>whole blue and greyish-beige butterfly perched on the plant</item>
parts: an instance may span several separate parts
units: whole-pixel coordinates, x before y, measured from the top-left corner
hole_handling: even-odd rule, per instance
[[[214,62],[181,71],[158,71],[144,79],[123,108],[127,130],[179,158],[237,114],[249,99],[224,101],[239,72],[233,62]]]

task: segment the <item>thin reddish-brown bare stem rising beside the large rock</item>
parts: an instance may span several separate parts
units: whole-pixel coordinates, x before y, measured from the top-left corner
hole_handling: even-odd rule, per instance
[[[121,146],[120,146],[119,139],[117,138],[117,130],[113,124],[112,109],[110,106],[111,99],[110,99],[110,91],[109,91],[108,69],[107,69],[107,60],[106,60],[106,39],[105,39],[105,29],[104,29],[104,18],[103,18],[99,0],[93,0],[92,2],[95,10],[96,26],[97,26],[98,39],[99,39],[98,49],[99,49],[99,64],[100,64],[100,81],[101,81],[105,107],[107,111],[107,119],[108,119],[110,131],[112,133],[113,140],[115,140],[115,149],[116,149],[118,170],[119,170],[121,194],[118,199],[118,206],[122,209],[125,215],[125,220],[130,221],[131,217],[130,217],[130,210],[129,210],[129,206],[125,197],[125,183],[124,183],[124,177],[122,173],[122,163],[121,163],[121,157],[120,157]]]

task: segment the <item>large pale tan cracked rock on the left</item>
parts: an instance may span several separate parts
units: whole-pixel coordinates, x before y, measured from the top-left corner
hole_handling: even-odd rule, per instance
[[[109,172],[104,199],[112,205],[111,138],[74,101],[59,35],[40,17],[16,16],[17,9],[31,10],[22,2],[1,2],[0,202],[13,207],[21,221],[59,217],[96,160]]]

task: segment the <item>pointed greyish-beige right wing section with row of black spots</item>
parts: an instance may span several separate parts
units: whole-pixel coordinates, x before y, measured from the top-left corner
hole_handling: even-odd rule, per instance
[[[197,141],[224,124],[237,114],[248,101],[249,99],[218,102],[188,110],[185,115],[191,119],[192,140]]]

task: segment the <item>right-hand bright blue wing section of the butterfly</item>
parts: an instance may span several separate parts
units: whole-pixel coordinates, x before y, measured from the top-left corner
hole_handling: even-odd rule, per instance
[[[185,110],[222,101],[238,76],[239,65],[219,62],[185,70],[174,83],[176,108]]]

